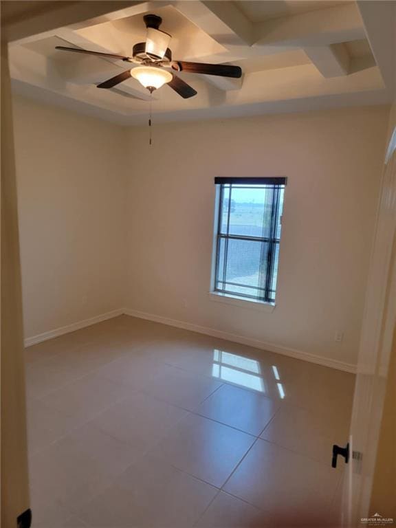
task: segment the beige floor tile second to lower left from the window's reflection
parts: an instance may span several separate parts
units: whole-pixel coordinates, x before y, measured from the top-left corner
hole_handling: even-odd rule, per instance
[[[98,415],[92,423],[111,436],[145,453],[168,433],[188,412],[135,392]]]

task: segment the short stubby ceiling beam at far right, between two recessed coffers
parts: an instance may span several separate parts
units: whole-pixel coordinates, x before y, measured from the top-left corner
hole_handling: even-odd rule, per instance
[[[304,51],[322,76],[339,77],[349,74],[350,58],[344,44],[305,47]]]

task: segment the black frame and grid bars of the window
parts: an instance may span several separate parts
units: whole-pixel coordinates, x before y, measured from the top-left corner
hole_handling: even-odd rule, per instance
[[[241,298],[243,300],[254,300],[261,303],[275,303],[276,297],[276,285],[274,289],[272,288],[274,281],[274,265],[275,265],[275,256],[276,256],[276,245],[281,243],[281,236],[279,238],[276,236],[278,231],[278,215],[279,215],[279,206],[281,201],[281,190],[285,190],[287,185],[286,177],[267,177],[267,178],[225,178],[217,177],[214,178],[214,184],[219,186],[219,194],[217,195],[217,219],[216,219],[216,255],[214,263],[214,285],[213,290],[218,294],[225,294],[228,296],[233,296],[236,298]],[[263,186],[271,186],[273,189],[272,194],[272,207],[271,207],[271,225],[270,225],[270,236],[249,236],[249,235],[239,235],[239,234],[230,234],[230,213],[231,213],[231,199],[232,199],[232,185],[246,186],[246,188],[262,188]],[[223,218],[223,193],[225,186],[230,187],[229,197],[228,197],[228,221],[227,221],[227,232],[224,233],[221,230],[222,218]],[[227,266],[227,254],[228,254],[228,241],[230,239],[234,240],[244,240],[244,241],[257,241],[262,243],[268,243],[269,248],[267,252],[263,252],[263,247],[261,249],[261,262],[260,266],[263,266],[263,261],[265,259],[265,279],[259,287],[254,287],[245,284],[231,283],[230,281],[224,280],[226,278],[226,266]],[[225,241],[225,256],[223,262],[223,280],[219,279],[219,260],[220,260],[220,244],[221,240]],[[277,270],[276,270],[277,271]],[[223,287],[218,287],[219,283],[223,284]],[[255,294],[249,295],[240,292],[232,292],[226,289],[225,285],[235,285],[241,286],[245,289],[252,288],[252,291],[256,292]]]

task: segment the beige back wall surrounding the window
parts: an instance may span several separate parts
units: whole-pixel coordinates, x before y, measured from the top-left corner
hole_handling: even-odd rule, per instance
[[[152,147],[130,129],[126,306],[355,363],[388,113],[154,125]],[[288,178],[276,309],[214,303],[213,179],[274,175]]]

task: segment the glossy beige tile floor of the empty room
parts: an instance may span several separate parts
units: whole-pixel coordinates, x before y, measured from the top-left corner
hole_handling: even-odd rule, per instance
[[[128,316],[25,359],[33,528],[339,525],[353,375]]]

